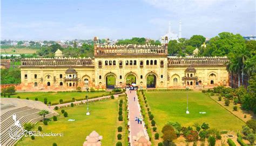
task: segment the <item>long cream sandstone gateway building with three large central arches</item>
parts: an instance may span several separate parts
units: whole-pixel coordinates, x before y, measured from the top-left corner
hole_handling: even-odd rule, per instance
[[[228,84],[227,57],[169,57],[167,37],[158,46],[100,45],[97,37],[94,41],[94,58],[64,58],[57,50],[55,58],[22,59],[19,88],[23,91],[71,91],[77,87],[97,90],[125,87],[127,77],[131,76],[132,82],[144,89]]]

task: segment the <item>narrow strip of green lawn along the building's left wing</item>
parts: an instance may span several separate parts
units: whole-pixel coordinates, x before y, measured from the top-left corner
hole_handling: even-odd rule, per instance
[[[109,92],[88,92],[89,98],[92,96],[103,96],[108,94]],[[35,100],[38,98],[38,101],[44,101],[44,98],[47,98],[48,102],[51,103],[59,102],[59,99],[63,99],[63,101],[75,99],[85,98],[86,92],[17,92],[14,95],[11,95],[11,98],[17,98],[20,96],[21,99],[29,98],[30,100]],[[7,97],[7,96],[6,96]]]

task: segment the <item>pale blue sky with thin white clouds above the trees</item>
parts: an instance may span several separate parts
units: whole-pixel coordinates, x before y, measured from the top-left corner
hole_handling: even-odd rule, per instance
[[[168,30],[206,38],[255,36],[255,0],[2,0],[1,39],[159,39]]]

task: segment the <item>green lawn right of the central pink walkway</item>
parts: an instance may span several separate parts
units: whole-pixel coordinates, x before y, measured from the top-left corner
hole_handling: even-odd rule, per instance
[[[242,125],[245,124],[200,92],[188,92],[190,114],[186,114],[185,91],[146,92],[145,95],[158,129],[168,121],[177,121],[181,126],[193,126],[195,122],[199,124],[206,122],[210,128],[219,130],[241,130]],[[206,114],[199,114],[199,112],[206,112]]]

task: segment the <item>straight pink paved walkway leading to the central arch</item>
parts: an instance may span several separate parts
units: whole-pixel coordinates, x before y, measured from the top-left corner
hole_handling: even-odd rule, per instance
[[[130,128],[131,128],[131,146],[133,145],[134,142],[134,137],[137,136],[137,134],[140,131],[143,131],[144,135],[148,137],[146,129],[144,128],[144,121],[142,124],[138,124],[137,121],[135,121],[135,116],[139,117],[140,114],[140,107],[139,107],[139,102],[138,102],[138,96],[136,94],[136,91],[126,91],[127,96],[128,96],[128,108],[129,108],[129,120],[130,120]],[[136,98],[134,101],[134,97]]]

